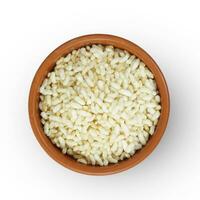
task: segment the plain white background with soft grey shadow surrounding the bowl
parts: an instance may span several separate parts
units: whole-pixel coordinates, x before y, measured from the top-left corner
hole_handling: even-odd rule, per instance
[[[198,1],[0,1],[1,199],[200,199]],[[138,166],[86,176],[53,161],[31,130],[27,103],[44,58],[79,35],[109,33],[144,48],[163,71],[171,116]]]

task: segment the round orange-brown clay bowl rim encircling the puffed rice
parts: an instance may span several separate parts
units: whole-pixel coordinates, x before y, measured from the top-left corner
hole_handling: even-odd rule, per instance
[[[129,159],[120,161],[117,164],[109,164],[108,166],[104,167],[84,165],[78,163],[72,157],[62,154],[61,151],[54,144],[52,144],[49,138],[44,134],[43,127],[40,122],[40,111],[38,108],[40,85],[42,84],[44,78],[47,76],[48,72],[53,70],[56,61],[61,56],[65,56],[74,49],[78,49],[80,47],[92,44],[113,45],[114,47],[127,50],[131,54],[134,54],[139,59],[141,59],[155,76],[162,104],[161,115],[155,133],[153,134],[153,136],[150,137],[147,144],[141,150],[137,151],[135,155],[130,157]],[[142,48],[140,48],[136,44],[126,39],[117,36],[94,34],[94,35],[85,35],[72,39],[59,46],[49,56],[47,56],[47,58],[39,67],[33,79],[29,94],[28,107],[29,107],[30,123],[33,132],[38,142],[40,143],[42,148],[49,154],[49,156],[51,156],[55,161],[57,161],[64,167],[79,173],[89,174],[89,175],[108,175],[127,170],[137,165],[154,150],[154,148],[159,143],[166,129],[169,117],[170,103],[169,103],[169,92],[167,84],[162,72],[160,71],[155,61]]]

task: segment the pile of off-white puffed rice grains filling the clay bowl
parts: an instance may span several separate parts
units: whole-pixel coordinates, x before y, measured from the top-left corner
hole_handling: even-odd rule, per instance
[[[132,156],[154,133],[161,110],[153,74],[112,46],[86,46],[61,57],[40,94],[45,134],[84,164]]]

